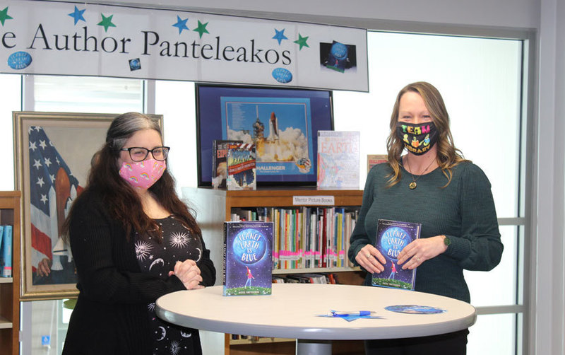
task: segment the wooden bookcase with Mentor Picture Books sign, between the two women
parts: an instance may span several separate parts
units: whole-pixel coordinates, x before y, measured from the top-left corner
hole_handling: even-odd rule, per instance
[[[358,209],[362,203],[362,190],[317,190],[316,187],[258,187],[258,190],[218,190],[211,187],[183,187],[182,196],[196,211],[196,220],[202,229],[206,248],[216,267],[216,285],[222,284],[223,223],[230,221],[232,214],[245,209],[285,208],[296,209],[302,206],[311,208],[345,207]],[[316,201],[320,200],[320,204]],[[347,235],[347,238],[349,235]],[[341,262],[341,264],[345,264]],[[276,268],[273,275],[285,277],[292,274],[331,273],[340,284],[360,285],[364,274],[357,267],[296,267]],[[249,296],[262,297],[262,296]],[[352,350],[363,352],[362,342],[343,342],[335,344],[334,353],[352,354]],[[345,344],[347,343],[347,344]],[[232,339],[225,334],[225,353],[230,355],[248,354],[249,351],[261,354],[295,354],[295,339],[278,339],[248,336],[246,339]],[[282,352],[281,352],[282,351]],[[338,352],[336,352],[338,351]],[[355,351],[353,351],[355,353]]]

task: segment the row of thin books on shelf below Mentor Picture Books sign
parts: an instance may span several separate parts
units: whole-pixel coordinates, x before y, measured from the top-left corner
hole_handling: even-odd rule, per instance
[[[349,238],[359,207],[232,209],[232,221],[273,222],[273,269],[350,267]]]

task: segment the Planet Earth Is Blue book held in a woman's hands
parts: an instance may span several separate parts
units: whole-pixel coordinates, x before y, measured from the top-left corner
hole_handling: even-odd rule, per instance
[[[384,271],[373,274],[373,286],[391,287],[394,289],[413,290],[416,269],[403,269],[398,265],[398,254],[412,240],[420,238],[421,223],[390,221],[379,219],[376,226],[375,247],[386,259]]]

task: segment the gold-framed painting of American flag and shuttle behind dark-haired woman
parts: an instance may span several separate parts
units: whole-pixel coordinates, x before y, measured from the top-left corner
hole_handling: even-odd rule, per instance
[[[61,225],[73,199],[85,187],[93,155],[118,115],[13,112],[15,185],[22,193],[21,300],[78,295]],[[162,127],[161,115],[148,116]],[[37,272],[40,263],[49,266],[49,276]]]

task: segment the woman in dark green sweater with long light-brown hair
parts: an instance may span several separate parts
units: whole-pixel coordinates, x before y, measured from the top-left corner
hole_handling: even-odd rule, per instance
[[[420,238],[398,255],[398,267],[415,269],[415,290],[470,302],[463,269],[488,271],[503,245],[491,185],[453,144],[449,115],[430,83],[405,86],[396,98],[387,139],[388,163],[367,175],[348,257],[371,274],[386,259],[375,248],[379,219],[421,223]],[[407,153],[402,155],[403,151]],[[367,340],[367,354],[465,354],[468,330],[432,337]]]

